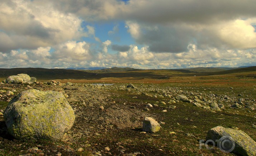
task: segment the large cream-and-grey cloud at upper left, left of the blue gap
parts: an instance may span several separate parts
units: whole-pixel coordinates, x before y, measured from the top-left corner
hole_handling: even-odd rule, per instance
[[[88,36],[82,20],[74,14],[56,10],[50,3],[3,0],[0,4],[1,52],[34,49]]]

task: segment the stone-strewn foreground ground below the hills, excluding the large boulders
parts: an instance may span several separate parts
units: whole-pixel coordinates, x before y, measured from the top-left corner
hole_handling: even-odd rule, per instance
[[[256,140],[255,86],[127,85],[1,84],[0,155],[236,155],[199,149],[198,140],[218,125]],[[19,141],[6,131],[6,105],[33,88],[62,92],[72,106],[76,120],[62,140]],[[160,131],[143,132],[144,117],[158,121]]]

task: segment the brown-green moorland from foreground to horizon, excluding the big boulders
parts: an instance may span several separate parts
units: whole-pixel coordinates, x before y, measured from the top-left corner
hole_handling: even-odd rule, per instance
[[[256,141],[256,67],[118,70],[0,69],[1,80],[25,73],[41,82],[0,84],[0,155],[238,155],[199,148],[216,126],[242,130]],[[6,106],[28,89],[66,96],[76,119],[61,140],[20,141],[8,133]],[[160,131],[144,132],[145,117],[158,121]]]

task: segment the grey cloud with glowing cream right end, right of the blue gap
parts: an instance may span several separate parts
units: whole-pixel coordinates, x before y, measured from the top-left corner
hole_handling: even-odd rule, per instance
[[[126,22],[127,31],[140,45],[152,52],[178,53],[187,51],[190,43],[200,48],[256,48],[255,19],[233,20],[212,25],[148,25]]]

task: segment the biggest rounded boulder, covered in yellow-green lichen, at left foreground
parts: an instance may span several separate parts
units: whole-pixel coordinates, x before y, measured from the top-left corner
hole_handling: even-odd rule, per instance
[[[61,139],[71,129],[75,115],[62,93],[31,89],[10,101],[4,119],[16,139]]]

